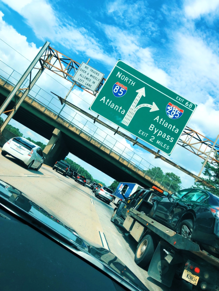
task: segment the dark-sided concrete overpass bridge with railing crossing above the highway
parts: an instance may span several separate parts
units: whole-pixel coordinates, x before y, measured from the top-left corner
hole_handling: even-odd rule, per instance
[[[0,105],[13,88],[13,83],[1,76]],[[17,100],[22,93],[19,91],[15,95]],[[48,101],[45,98],[43,100],[40,94],[33,94],[35,97],[31,94],[32,91],[25,97],[13,119],[49,140],[44,149],[46,164],[53,166],[70,152],[115,180],[138,183],[143,187],[156,185],[169,192],[177,191],[171,182],[164,185],[161,181],[163,177],[161,179],[156,173],[152,175],[147,171],[153,167],[150,163],[99,129],[92,120],[82,120],[79,114],[77,119],[77,113],[67,106],[60,112],[61,104],[55,96],[50,95]],[[6,110],[13,107],[14,98]],[[71,110],[73,112],[69,112]]]

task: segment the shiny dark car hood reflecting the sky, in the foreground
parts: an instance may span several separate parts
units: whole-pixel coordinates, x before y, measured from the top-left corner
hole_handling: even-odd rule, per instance
[[[39,228],[72,252],[77,253],[128,289],[148,290],[112,252],[83,238],[51,210],[34,203],[24,193],[1,180],[0,204],[34,227]]]

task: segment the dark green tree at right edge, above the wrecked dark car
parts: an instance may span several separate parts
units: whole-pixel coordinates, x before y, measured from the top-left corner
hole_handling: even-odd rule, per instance
[[[216,158],[218,159],[218,158]],[[204,162],[202,162],[203,164]],[[214,186],[215,188],[212,187],[207,187],[201,182],[195,182],[195,186],[192,186],[192,188],[202,188],[207,191],[210,191],[211,193],[218,195],[219,196],[219,168],[215,166],[211,166],[209,162],[206,163],[204,167],[204,180]]]

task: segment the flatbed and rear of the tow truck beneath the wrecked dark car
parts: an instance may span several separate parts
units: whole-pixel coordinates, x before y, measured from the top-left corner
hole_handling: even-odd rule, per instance
[[[138,242],[135,262],[149,266],[150,277],[168,287],[176,276],[191,283],[193,290],[219,291],[218,258],[138,210],[127,212],[123,226]]]

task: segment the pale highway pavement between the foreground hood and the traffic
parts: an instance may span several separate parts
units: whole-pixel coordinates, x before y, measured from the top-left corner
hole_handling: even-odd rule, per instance
[[[1,151],[0,151],[1,153]],[[134,262],[137,243],[126,230],[110,218],[115,205],[107,205],[86,187],[43,165],[39,171],[25,169],[14,158],[0,154],[0,179],[22,191],[40,206],[51,209],[74,228],[82,238],[104,246],[114,253],[151,291],[192,290],[184,280],[174,279],[172,287],[150,278]]]

